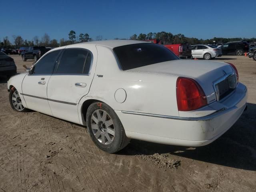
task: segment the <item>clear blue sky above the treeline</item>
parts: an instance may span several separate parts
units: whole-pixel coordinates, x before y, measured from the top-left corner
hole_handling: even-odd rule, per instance
[[[0,39],[20,35],[68,39],[70,30],[91,38],[129,38],[171,32],[188,37],[256,37],[255,0],[0,0]]]

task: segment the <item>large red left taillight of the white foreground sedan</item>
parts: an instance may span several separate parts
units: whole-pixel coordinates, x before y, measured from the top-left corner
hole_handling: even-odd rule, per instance
[[[176,82],[179,111],[192,111],[207,105],[201,86],[191,78],[179,77]]]

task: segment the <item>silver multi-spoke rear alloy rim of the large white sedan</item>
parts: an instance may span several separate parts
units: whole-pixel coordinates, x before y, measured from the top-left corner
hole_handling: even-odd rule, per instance
[[[101,109],[95,110],[91,117],[91,128],[95,138],[102,144],[111,144],[115,137],[115,127],[109,114]]]

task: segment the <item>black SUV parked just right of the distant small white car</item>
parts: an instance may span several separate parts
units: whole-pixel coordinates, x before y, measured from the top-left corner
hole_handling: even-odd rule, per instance
[[[249,50],[249,44],[246,41],[233,41],[220,46],[222,55],[243,55]]]

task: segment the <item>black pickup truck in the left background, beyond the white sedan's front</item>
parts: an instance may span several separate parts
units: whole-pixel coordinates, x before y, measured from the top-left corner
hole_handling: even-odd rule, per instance
[[[34,59],[36,62],[41,56],[43,56],[49,49],[44,46],[31,46],[26,47],[26,50],[21,52],[21,57],[23,61],[27,59]]]

